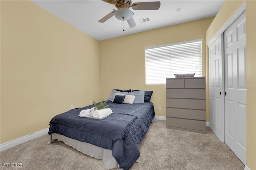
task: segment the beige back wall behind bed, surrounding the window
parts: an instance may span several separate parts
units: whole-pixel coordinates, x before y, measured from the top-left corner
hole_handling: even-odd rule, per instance
[[[212,18],[172,25],[100,41],[100,96],[107,99],[112,89],[153,90],[156,115],[166,116],[166,86],[145,84],[145,47],[203,39]],[[122,27],[120,27],[122,29]],[[202,48],[203,76],[206,75]],[[162,111],[158,111],[158,106]]]

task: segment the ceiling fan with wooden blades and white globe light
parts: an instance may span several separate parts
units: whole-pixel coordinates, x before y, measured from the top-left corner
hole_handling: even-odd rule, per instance
[[[129,9],[132,7],[133,10],[158,10],[160,8],[160,1],[156,2],[136,2],[132,4],[131,0],[103,0],[109,4],[113,4],[118,8],[113,9],[112,12],[104,16],[99,22],[103,23],[115,16],[118,20],[127,21],[128,25],[132,28],[136,26],[134,19],[132,18],[133,12]],[[124,29],[123,29],[124,31]]]

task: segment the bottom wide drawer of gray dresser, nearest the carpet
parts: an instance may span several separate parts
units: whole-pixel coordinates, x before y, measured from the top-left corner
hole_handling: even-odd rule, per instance
[[[166,126],[206,131],[206,121],[166,117]]]

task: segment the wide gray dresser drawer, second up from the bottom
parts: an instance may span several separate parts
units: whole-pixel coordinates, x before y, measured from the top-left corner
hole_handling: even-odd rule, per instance
[[[184,119],[206,120],[205,110],[166,108],[166,117],[176,117]]]

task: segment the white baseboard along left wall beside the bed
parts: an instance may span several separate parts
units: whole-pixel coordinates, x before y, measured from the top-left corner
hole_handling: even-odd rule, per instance
[[[6,143],[3,143],[0,145],[0,151],[3,151],[3,150],[6,150],[6,149],[9,149],[11,147],[14,147],[16,145],[19,145],[21,143],[24,143],[26,141],[30,141],[31,139],[34,139],[36,137],[40,137],[42,135],[45,135],[47,134],[49,131],[49,128],[46,128],[46,129],[43,129],[41,131],[38,131],[38,132],[35,132],[35,133],[31,133],[29,135],[26,135],[26,136],[23,136],[23,137],[20,137],[18,139],[14,139],[12,141],[9,141],[9,142],[6,142]]]

